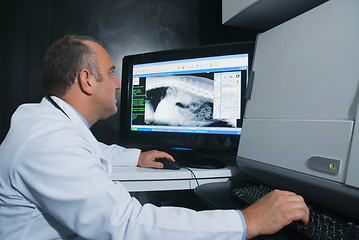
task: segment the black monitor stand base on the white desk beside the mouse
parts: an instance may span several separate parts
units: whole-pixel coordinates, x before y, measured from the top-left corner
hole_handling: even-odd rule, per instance
[[[192,149],[170,149],[167,150],[175,160],[185,167],[218,169],[224,168],[225,164],[218,160],[219,155],[208,155],[196,152]]]

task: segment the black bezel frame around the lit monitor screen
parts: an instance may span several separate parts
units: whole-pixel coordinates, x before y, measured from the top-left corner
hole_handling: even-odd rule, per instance
[[[130,131],[130,111],[132,91],[132,66],[134,64],[161,61],[181,60],[189,58],[211,57],[231,54],[249,54],[249,71],[253,61],[254,42],[207,45],[186,49],[166,50],[143,54],[128,55],[123,58],[122,89],[120,102],[120,144],[126,147],[136,147],[143,150],[159,149],[167,151],[173,147],[189,148],[195,151],[235,154],[238,148],[239,135],[215,135],[193,133],[161,133],[161,132],[132,132]],[[244,90],[245,91],[245,90]],[[244,96],[244,94],[243,94]],[[242,116],[244,116],[244,104]],[[227,145],[222,142],[229,142]]]

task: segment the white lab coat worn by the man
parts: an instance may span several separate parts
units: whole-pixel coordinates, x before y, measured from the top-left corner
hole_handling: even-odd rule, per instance
[[[140,151],[99,143],[79,115],[53,97],[14,113],[0,146],[0,239],[244,239],[234,210],[195,212],[141,205],[109,178]]]

